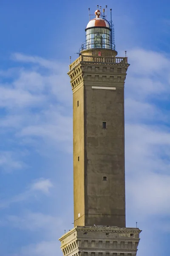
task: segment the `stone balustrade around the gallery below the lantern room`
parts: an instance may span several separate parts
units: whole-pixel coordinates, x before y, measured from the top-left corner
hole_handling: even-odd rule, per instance
[[[70,64],[69,70],[74,68],[80,61],[85,62],[104,62],[104,63],[122,63],[127,64],[127,57],[102,57],[102,56],[88,56],[88,55],[80,55],[77,60]]]

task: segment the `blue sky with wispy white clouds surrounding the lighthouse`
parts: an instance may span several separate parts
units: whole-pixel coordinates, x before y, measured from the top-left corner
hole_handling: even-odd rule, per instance
[[[92,3],[93,2],[93,3]],[[138,256],[170,254],[170,3],[0,1],[0,255],[62,256],[73,228],[72,91],[88,8],[113,10],[118,56],[127,51],[127,227]]]

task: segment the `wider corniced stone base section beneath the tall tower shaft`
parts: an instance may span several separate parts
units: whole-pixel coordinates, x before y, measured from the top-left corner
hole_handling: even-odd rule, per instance
[[[59,241],[64,256],[136,256],[141,230],[129,227],[81,227]]]

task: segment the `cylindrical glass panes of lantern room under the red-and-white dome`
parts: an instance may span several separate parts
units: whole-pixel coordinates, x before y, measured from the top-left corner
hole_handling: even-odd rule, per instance
[[[109,28],[90,28],[86,30],[86,47],[111,49]]]

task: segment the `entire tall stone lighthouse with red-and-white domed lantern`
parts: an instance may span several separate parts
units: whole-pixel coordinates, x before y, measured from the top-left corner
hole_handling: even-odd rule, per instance
[[[69,66],[73,91],[74,229],[64,256],[136,256],[138,228],[125,224],[124,84],[129,64],[117,57],[113,22],[99,9]]]

